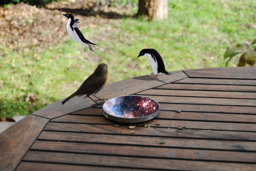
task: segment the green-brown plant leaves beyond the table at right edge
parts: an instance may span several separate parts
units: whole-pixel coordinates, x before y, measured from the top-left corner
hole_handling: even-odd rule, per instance
[[[256,39],[254,39],[251,43],[251,45],[248,45],[247,43],[243,44],[237,44],[235,48],[227,48],[224,59],[228,58],[228,61],[226,63],[226,66],[228,65],[228,62],[236,55],[242,53],[242,55],[239,58],[239,63],[237,66],[245,66],[245,64],[249,64],[253,66],[256,62]]]

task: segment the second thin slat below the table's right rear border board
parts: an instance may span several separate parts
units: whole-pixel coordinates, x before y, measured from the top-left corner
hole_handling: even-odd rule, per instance
[[[245,85],[202,85],[202,84],[165,84],[156,89],[170,90],[211,90],[228,92],[256,92],[256,86]]]

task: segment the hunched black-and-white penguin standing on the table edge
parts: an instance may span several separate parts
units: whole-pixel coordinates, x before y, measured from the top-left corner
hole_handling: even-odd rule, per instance
[[[165,70],[164,61],[161,55],[155,49],[142,49],[137,57],[143,55],[148,58],[148,61],[154,70],[154,72],[151,73],[151,77],[156,77],[156,75],[159,73],[174,75]]]

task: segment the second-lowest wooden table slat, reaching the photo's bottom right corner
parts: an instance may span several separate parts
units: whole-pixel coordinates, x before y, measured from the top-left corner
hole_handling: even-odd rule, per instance
[[[150,154],[148,154],[150,155]],[[201,154],[202,155],[202,154]],[[256,169],[255,164],[219,163],[186,160],[150,159],[136,157],[100,156],[88,154],[71,154],[61,152],[32,152],[29,151],[26,160],[54,161],[60,163],[74,163],[83,165],[99,165],[108,167],[141,168],[141,169],[164,169],[164,170],[252,170]],[[104,167],[104,168],[108,168]],[[73,169],[71,169],[73,170]]]

